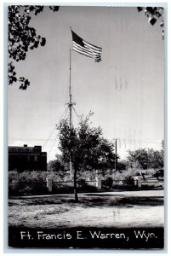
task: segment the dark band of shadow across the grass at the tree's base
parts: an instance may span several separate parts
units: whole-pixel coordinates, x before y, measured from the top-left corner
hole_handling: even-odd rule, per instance
[[[74,200],[74,196],[69,197],[42,197],[30,199],[9,200],[9,207],[12,206],[39,206],[39,205],[61,205],[80,206],[80,207],[134,207],[134,206],[162,206],[162,196],[125,196],[125,195],[103,195],[103,196],[80,196],[79,201]]]

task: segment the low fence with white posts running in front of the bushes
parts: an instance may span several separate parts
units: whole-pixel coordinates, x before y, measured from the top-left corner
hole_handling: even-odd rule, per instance
[[[163,188],[163,179],[149,176],[129,177],[129,179],[114,179],[112,177],[96,176],[94,180],[81,179],[77,181],[78,192],[107,191],[111,189],[144,189]],[[44,195],[46,193],[73,193],[73,181],[53,180],[47,177],[41,181],[33,180],[11,181],[9,195]]]

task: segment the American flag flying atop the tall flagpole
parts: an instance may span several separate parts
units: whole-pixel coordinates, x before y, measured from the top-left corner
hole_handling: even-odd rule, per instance
[[[94,61],[101,61],[102,48],[95,46],[94,44],[89,44],[80,38],[75,32],[71,30],[72,33],[72,44],[73,49],[78,53],[85,55],[87,57],[93,58]]]

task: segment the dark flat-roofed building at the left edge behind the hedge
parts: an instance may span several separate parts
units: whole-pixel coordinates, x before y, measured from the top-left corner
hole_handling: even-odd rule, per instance
[[[47,153],[42,146],[9,146],[9,171],[47,171]]]

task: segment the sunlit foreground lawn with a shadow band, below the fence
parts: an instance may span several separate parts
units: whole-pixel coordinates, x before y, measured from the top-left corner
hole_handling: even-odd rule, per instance
[[[9,226],[162,227],[163,190],[9,199]]]

